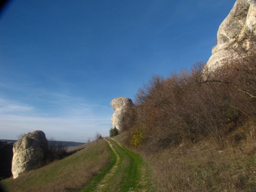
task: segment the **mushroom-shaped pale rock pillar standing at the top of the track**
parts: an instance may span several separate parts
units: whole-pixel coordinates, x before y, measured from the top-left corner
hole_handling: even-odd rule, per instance
[[[118,131],[122,132],[127,126],[131,126],[134,116],[134,103],[132,100],[127,97],[118,97],[113,99],[110,105],[115,110],[111,118],[113,128],[117,128]]]

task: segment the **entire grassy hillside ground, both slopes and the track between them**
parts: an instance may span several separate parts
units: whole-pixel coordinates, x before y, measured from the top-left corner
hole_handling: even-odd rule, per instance
[[[157,151],[147,142],[134,147],[130,143],[131,132],[124,131],[114,139],[135,153],[111,139],[108,140],[114,147],[112,150],[106,141],[97,140],[70,150],[70,156],[62,160],[17,179],[3,180],[3,184],[10,192],[127,191],[131,188],[133,191],[253,191],[256,189],[256,142],[254,129],[247,134],[251,126],[241,126],[236,133],[245,138],[230,137],[222,150],[211,138]]]

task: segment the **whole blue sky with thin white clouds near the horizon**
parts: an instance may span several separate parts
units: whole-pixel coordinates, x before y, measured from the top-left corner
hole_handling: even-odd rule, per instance
[[[0,139],[109,135],[115,97],[207,61],[235,0],[12,0],[0,14]]]

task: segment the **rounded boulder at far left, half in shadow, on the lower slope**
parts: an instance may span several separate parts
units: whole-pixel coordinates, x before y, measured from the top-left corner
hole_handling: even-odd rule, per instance
[[[48,141],[43,131],[25,134],[14,143],[11,172],[17,178],[24,171],[36,169],[42,164],[48,152]]]

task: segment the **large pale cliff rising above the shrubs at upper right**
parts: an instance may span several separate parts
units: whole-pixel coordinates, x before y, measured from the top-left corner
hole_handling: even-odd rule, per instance
[[[236,47],[246,51],[255,48],[250,36],[256,34],[256,0],[237,0],[228,16],[220,24],[217,33],[217,45],[206,64],[209,70],[222,66],[231,59],[240,58]],[[253,46],[253,47],[252,47]]]

